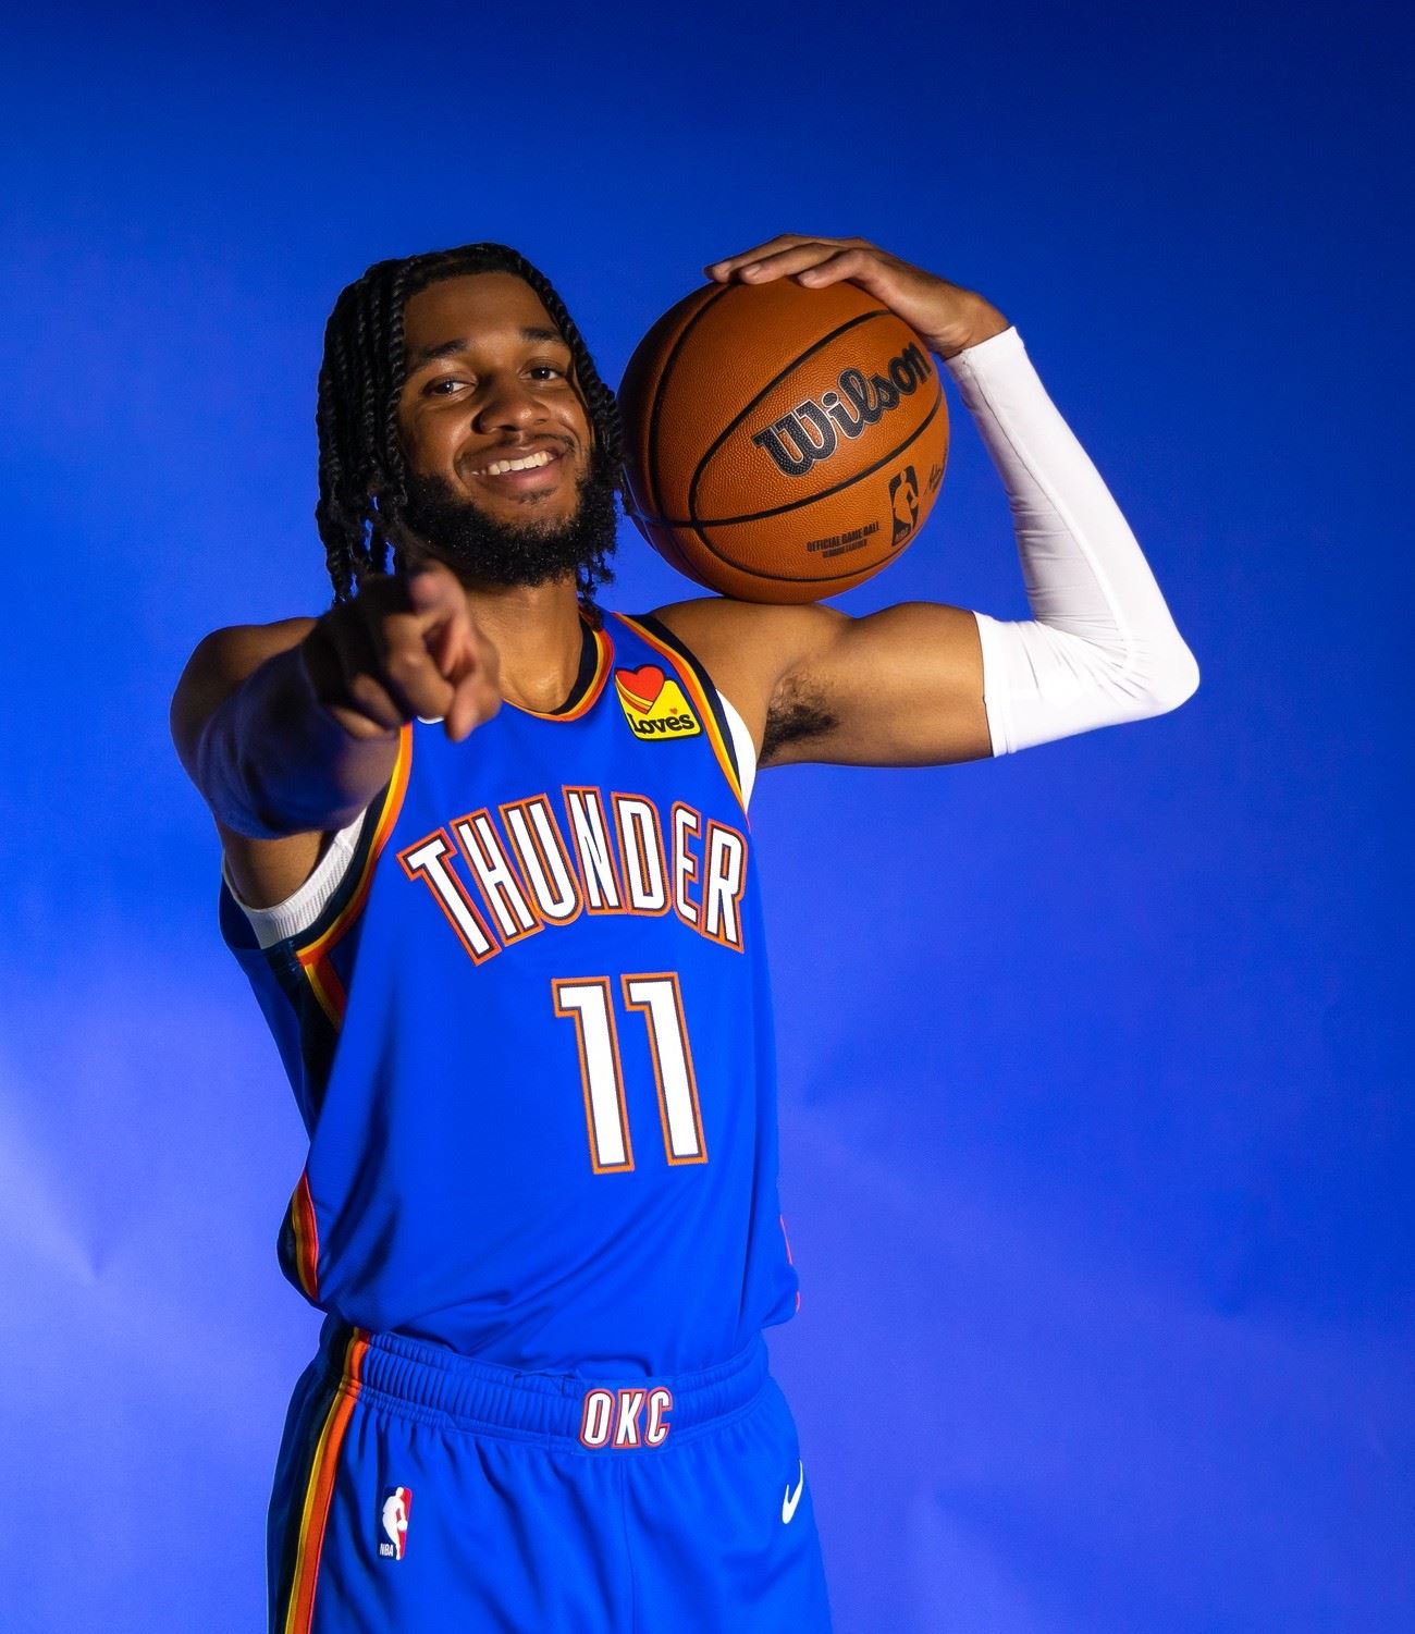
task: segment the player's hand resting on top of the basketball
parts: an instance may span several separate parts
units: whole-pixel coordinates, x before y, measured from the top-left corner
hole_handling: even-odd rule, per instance
[[[703,270],[719,284],[794,278],[807,289],[824,289],[848,278],[897,312],[941,358],[953,358],[1008,327],[1002,312],[977,291],[951,284],[864,239],[809,239],[786,232]]]

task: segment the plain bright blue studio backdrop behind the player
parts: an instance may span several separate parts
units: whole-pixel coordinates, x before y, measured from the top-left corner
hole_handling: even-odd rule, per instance
[[[997,763],[761,778],[773,1351],[838,1626],[1415,1626],[1405,25],[413,16],[7,26],[7,1627],[260,1626],[302,1144],[167,701],[209,627],[325,603],[333,296],[511,242],[613,381],[786,230],[1013,317],[1203,668]],[[626,529],[609,605],[681,593]],[[925,534],[838,605],[918,598],[1026,611],[962,413]]]

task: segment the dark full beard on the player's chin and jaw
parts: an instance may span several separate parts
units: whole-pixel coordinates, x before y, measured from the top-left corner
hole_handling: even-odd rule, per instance
[[[508,523],[453,492],[444,477],[407,479],[404,518],[428,556],[459,578],[489,585],[546,585],[593,569],[614,549],[614,484],[596,467],[575,484],[575,510],[560,521]]]

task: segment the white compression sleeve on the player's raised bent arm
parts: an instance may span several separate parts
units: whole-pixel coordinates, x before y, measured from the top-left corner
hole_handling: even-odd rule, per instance
[[[993,755],[1176,709],[1199,668],[1015,328],[946,361],[997,466],[1034,613],[975,613]]]

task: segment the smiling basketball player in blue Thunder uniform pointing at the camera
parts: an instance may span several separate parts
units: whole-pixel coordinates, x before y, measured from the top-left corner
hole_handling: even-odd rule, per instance
[[[913,325],[998,467],[1034,618],[606,614],[619,426],[544,276],[474,245],[340,296],[335,605],[217,631],[173,701],[310,1137],[279,1242],[325,1312],[270,1510],[283,1634],[828,1626],[761,1342],[796,1273],[753,776],[1007,753],[1198,683],[990,302],[858,239],[708,273],[851,278]]]

